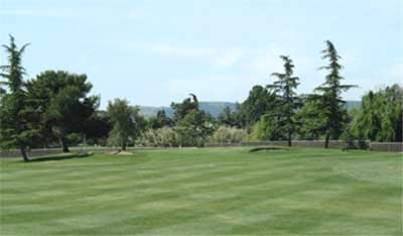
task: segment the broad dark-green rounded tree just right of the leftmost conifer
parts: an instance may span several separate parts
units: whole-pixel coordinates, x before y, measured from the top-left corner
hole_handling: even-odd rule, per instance
[[[32,104],[40,111],[42,137],[56,136],[68,152],[66,136],[84,133],[87,120],[99,105],[99,98],[87,96],[92,85],[86,75],[66,71],[45,71],[28,81]]]

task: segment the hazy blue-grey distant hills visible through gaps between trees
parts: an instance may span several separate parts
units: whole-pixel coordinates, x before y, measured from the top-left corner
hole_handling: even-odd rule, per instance
[[[360,101],[347,101],[347,109],[359,108]],[[199,102],[200,109],[210,113],[213,117],[217,117],[220,112],[225,108],[229,107],[231,110],[235,110],[234,102]],[[153,107],[153,106],[139,106],[140,113],[145,117],[153,117],[157,115],[159,110],[164,110],[167,116],[173,116],[173,110],[171,107]]]

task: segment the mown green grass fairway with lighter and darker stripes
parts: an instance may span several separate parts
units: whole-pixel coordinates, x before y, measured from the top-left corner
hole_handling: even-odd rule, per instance
[[[247,148],[1,161],[1,235],[401,235],[401,154]]]

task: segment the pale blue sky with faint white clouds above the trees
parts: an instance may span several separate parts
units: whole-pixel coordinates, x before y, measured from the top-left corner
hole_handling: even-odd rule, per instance
[[[27,79],[85,73],[101,108],[113,98],[167,106],[194,93],[242,102],[289,55],[299,93],[324,82],[331,40],[344,83],[365,92],[403,81],[402,0],[0,0],[0,43],[29,42]],[[0,52],[0,63],[6,63]]]

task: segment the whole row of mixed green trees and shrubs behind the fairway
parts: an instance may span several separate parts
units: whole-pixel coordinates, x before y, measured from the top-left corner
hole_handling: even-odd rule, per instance
[[[173,117],[163,110],[146,119],[125,99],[99,110],[100,97],[90,96],[85,74],[48,70],[25,80],[22,56],[29,44],[18,47],[10,36],[3,45],[8,63],[0,76],[0,145],[18,148],[24,160],[28,149],[70,145],[203,146],[206,142],[242,140],[331,139],[402,141],[403,89],[398,84],[370,91],[359,109],[348,110],[342,93],[356,87],[343,84],[343,66],[332,42],[322,58],[325,80],[312,94],[298,94],[290,56],[280,56],[284,70],[271,74],[272,84],[256,85],[236,109],[225,108],[215,118],[199,108],[197,96],[171,104]]]

